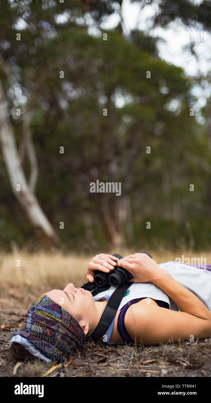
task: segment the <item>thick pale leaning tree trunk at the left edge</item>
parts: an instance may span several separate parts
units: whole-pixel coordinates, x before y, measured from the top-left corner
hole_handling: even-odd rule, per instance
[[[41,229],[44,235],[50,239],[52,243],[57,244],[57,234],[39,206],[37,197],[31,191],[25,178],[16,147],[12,125],[8,118],[8,112],[3,101],[4,92],[2,83],[0,82],[0,143],[12,192],[20,206],[26,212],[31,225],[35,229]],[[20,185],[20,191],[17,191],[17,185]]]

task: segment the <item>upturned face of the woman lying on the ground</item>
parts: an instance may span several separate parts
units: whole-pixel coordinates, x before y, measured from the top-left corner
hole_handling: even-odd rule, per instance
[[[51,290],[46,293],[57,304],[70,312],[80,324],[84,333],[92,327],[96,317],[96,308],[92,293],[83,288],[76,288],[74,284],[68,284],[64,290]]]

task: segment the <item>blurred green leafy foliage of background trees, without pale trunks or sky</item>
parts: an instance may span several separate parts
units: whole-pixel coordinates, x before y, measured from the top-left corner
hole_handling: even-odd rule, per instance
[[[159,60],[155,42],[145,40],[143,33],[135,33],[129,42],[118,31],[108,31],[103,41],[73,22],[57,27],[54,16],[63,10],[62,3],[46,10],[37,2],[19,3],[19,14],[28,4],[29,27],[21,31],[17,45],[12,28],[17,17],[4,3],[3,15],[8,14],[0,20],[1,43],[6,40],[10,46],[2,53],[18,71],[16,81],[27,96],[20,109],[32,114],[37,198],[64,249],[106,250],[113,242],[108,216],[128,247],[172,247],[180,242],[188,246],[186,222],[195,247],[204,247],[211,241],[211,188],[200,162],[203,156],[209,163],[210,155],[206,127],[190,116],[191,80],[183,77],[182,69]],[[82,2],[72,12],[81,15]],[[98,17],[107,12],[103,8]],[[53,37],[41,21],[49,24]],[[147,71],[151,78],[146,78]],[[12,110],[14,96],[3,71],[0,74]],[[172,109],[175,100],[178,108]],[[18,120],[11,114],[11,121],[20,143],[22,116]],[[59,153],[61,146],[64,154]],[[26,160],[24,168],[28,177]],[[97,179],[121,182],[122,195],[90,193],[90,182]],[[0,243],[31,245],[33,230],[12,196],[2,156],[0,180]],[[147,221],[151,230],[146,229]]]

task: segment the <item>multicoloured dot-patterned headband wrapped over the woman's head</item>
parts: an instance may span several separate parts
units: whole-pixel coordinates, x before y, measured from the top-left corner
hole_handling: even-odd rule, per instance
[[[69,357],[85,340],[77,320],[47,295],[41,295],[31,305],[23,326],[12,334],[9,348],[20,343],[33,355],[59,362]],[[35,346],[33,348],[29,347]],[[34,353],[33,353],[34,352]]]

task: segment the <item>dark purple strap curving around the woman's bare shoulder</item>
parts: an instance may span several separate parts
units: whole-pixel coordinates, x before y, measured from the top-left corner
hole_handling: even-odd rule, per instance
[[[131,301],[129,301],[130,305],[133,305],[133,303],[136,303],[138,301],[141,301],[141,299],[144,299],[146,297],[143,298],[136,298],[136,299],[131,299]],[[151,298],[152,299],[152,298]],[[160,306],[161,308],[167,308],[169,309],[169,304],[167,302],[164,301],[160,301],[159,299],[154,299],[154,301],[158,304],[158,306]],[[126,327],[125,327],[125,314],[129,308],[129,303],[127,302],[121,309],[119,316],[118,316],[118,320],[117,320],[117,330],[121,336],[121,338],[126,342],[126,343],[130,343],[131,341],[133,341],[130,337],[130,335],[128,334]]]

